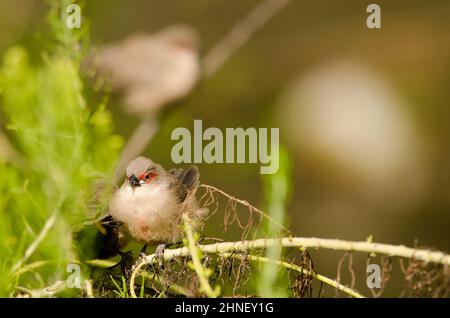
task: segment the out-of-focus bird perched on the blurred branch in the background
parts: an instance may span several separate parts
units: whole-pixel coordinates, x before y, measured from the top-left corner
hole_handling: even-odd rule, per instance
[[[154,115],[186,96],[200,75],[199,36],[188,25],[172,25],[154,34],[135,34],[105,46],[95,57],[97,71],[120,91],[125,110]]]

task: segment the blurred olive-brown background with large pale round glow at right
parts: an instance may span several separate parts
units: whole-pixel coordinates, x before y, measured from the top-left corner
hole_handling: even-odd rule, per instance
[[[87,1],[83,16],[92,47],[183,22],[198,30],[202,56],[257,3],[96,0]],[[291,1],[177,103],[145,154],[173,166],[170,133],[191,129],[194,119],[220,129],[279,127],[294,162],[288,225],[295,235],[372,235],[449,251],[450,2],[377,1],[376,30],[366,26],[369,3]],[[38,61],[43,35],[36,31],[47,10],[43,1],[0,0],[0,55],[21,44]],[[138,119],[120,104],[113,95],[116,131],[128,137]],[[199,168],[204,183],[264,206],[259,165]],[[209,222],[206,234],[238,238],[218,232],[220,216]],[[313,256],[316,269],[336,274],[342,254]],[[365,257],[355,262],[364,273]],[[394,279],[392,290],[399,284]]]

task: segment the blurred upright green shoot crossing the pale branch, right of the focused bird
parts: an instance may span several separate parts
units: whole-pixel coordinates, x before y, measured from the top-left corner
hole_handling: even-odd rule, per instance
[[[293,188],[292,184],[292,161],[286,149],[280,147],[279,170],[275,174],[263,175],[264,196],[267,211],[272,220],[265,219],[263,223],[267,237],[281,237],[280,228],[277,224],[285,223],[286,205]],[[266,257],[273,260],[281,258],[281,245],[267,248]],[[288,286],[286,270],[281,269],[276,263],[264,263],[262,270],[258,271],[256,277],[257,294],[263,297],[287,297]]]

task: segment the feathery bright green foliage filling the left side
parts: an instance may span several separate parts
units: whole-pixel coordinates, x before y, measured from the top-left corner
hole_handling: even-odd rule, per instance
[[[84,98],[85,31],[65,27],[69,2],[50,3],[52,52],[35,66],[26,49],[13,47],[0,68],[6,128],[22,157],[0,162],[0,296],[65,279],[77,258],[72,233],[104,208],[122,146],[105,103],[89,107]]]

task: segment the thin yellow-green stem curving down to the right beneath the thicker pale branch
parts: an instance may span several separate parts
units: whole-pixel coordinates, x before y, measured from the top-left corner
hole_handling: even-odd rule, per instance
[[[356,292],[355,290],[353,290],[351,288],[345,287],[344,285],[339,284],[338,282],[336,282],[336,281],[334,281],[334,280],[332,280],[332,279],[330,279],[328,277],[320,275],[320,274],[318,274],[318,273],[316,273],[314,271],[309,271],[306,268],[302,268],[302,267],[300,267],[298,265],[295,265],[295,264],[291,264],[291,263],[284,262],[284,261],[279,261],[279,260],[274,260],[274,259],[270,259],[270,258],[267,258],[267,257],[256,256],[256,255],[223,253],[223,254],[221,254],[221,256],[233,257],[233,258],[242,258],[242,257],[244,257],[244,258],[249,259],[250,261],[255,261],[255,262],[260,262],[260,263],[271,263],[271,264],[275,264],[275,265],[278,265],[278,266],[282,266],[282,267],[285,267],[285,268],[288,268],[288,269],[292,269],[292,270],[294,270],[296,272],[303,273],[305,275],[310,275],[311,277],[313,277],[313,278],[315,278],[315,279],[317,279],[317,280],[319,280],[319,281],[321,281],[321,282],[323,282],[323,283],[325,283],[327,285],[330,285],[330,286],[336,288],[337,290],[341,290],[344,293],[347,293],[348,295],[350,295],[352,297],[365,298],[363,295],[361,295],[360,293]]]

